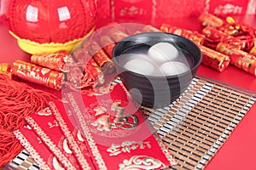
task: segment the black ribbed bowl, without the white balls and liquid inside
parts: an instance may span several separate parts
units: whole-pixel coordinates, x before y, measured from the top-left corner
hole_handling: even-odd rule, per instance
[[[183,53],[188,54],[186,58],[189,62],[190,71],[175,76],[155,77],[126,70],[121,64],[120,56],[125,51],[144,45],[151,47],[158,42],[171,42],[181,48]],[[201,59],[201,50],[194,42],[185,37],[164,32],[148,32],[127,37],[113,48],[113,62],[125,88],[130,91],[132,99],[150,108],[170,105],[172,101],[183,94],[195,77]]]

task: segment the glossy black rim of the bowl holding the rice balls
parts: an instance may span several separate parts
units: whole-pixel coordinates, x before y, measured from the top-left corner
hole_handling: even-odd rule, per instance
[[[172,37],[179,37],[189,43],[191,43],[195,49],[199,52],[199,59],[198,59],[198,62],[193,65],[193,67],[191,69],[189,69],[189,71],[185,71],[181,74],[177,74],[177,75],[172,75],[172,76],[152,76],[152,75],[143,75],[143,74],[140,74],[140,73],[137,73],[137,72],[134,72],[134,71],[130,71],[130,70],[127,70],[125,67],[123,67],[122,65],[119,65],[119,62],[117,61],[117,58],[118,56],[115,56],[115,51],[117,50],[117,48],[119,47],[119,45],[121,43],[124,43],[124,42],[127,42],[127,41],[131,41],[132,39],[136,38],[136,37],[145,37],[147,35],[158,35],[158,34],[166,34],[166,35],[169,35],[169,36],[172,36]],[[191,40],[189,40],[188,38],[186,37],[182,37],[182,36],[179,36],[177,34],[172,34],[172,33],[169,33],[169,32],[143,32],[143,33],[138,33],[138,34],[135,34],[135,35],[131,35],[129,37],[125,37],[124,39],[122,39],[121,41],[117,42],[113,48],[113,51],[112,51],[112,55],[113,55],[113,63],[114,65],[117,65],[121,70],[123,71],[128,71],[132,74],[135,74],[137,75],[138,77],[148,77],[148,78],[155,78],[155,79],[160,79],[160,78],[176,78],[176,77],[183,77],[184,75],[187,75],[189,73],[191,73],[192,75],[192,71],[195,71],[197,70],[197,68],[199,67],[199,65],[201,65],[201,60],[202,60],[202,54],[201,54],[201,49],[198,47],[198,45],[195,44],[195,42],[192,42]],[[196,72],[196,71],[195,71]],[[193,75],[192,75],[193,76]]]

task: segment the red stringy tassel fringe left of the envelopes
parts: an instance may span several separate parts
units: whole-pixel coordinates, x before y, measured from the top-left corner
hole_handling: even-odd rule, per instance
[[[0,74],[0,167],[23,149],[13,131],[26,125],[26,116],[44,109],[54,99],[57,97],[52,94]]]

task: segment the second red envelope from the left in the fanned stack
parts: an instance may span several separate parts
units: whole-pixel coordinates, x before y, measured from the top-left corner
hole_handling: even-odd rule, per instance
[[[63,167],[67,169],[81,169],[79,161],[73,155],[73,150],[71,150],[49,107],[26,116],[26,122],[38,134],[38,137],[42,139],[55,157],[61,161]]]

